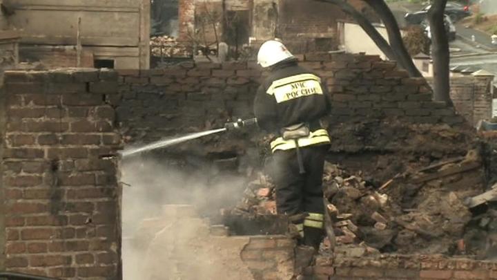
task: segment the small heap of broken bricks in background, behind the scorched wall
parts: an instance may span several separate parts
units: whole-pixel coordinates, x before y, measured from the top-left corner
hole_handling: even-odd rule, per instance
[[[164,35],[150,37],[150,54],[154,57],[188,57],[192,50],[180,44],[175,37]]]

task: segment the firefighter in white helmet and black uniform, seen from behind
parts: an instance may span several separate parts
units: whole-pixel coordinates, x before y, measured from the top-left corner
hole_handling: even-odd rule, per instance
[[[320,124],[330,109],[327,87],[277,39],[262,44],[257,63],[269,70],[257,89],[254,114],[259,127],[276,136],[271,176],[277,212],[291,217],[302,245],[318,250],[324,237],[322,174],[330,143]]]

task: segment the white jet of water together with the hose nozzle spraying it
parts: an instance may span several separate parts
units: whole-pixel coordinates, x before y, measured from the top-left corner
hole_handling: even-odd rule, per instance
[[[226,122],[226,124],[224,124],[224,127],[222,129],[211,129],[208,131],[190,133],[190,134],[186,134],[185,136],[180,136],[177,138],[166,138],[166,139],[158,140],[156,142],[146,144],[142,147],[125,149],[124,151],[121,151],[121,156],[126,157],[126,156],[131,156],[135,153],[142,153],[144,151],[151,151],[153,149],[169,147],[169,146],[173,146],[175,144],[186,142],[188,140],[193,140],[196,138],[208,136],[208,135],[215,134],[215,133],[236,130],[236,129],[242,129],[242,127],[248,127],[248,126],[251,126],[253,124],[257,124],[257,119],[255,119],[255,118],[251,118],[248,120],[238,119],[236,122]]]

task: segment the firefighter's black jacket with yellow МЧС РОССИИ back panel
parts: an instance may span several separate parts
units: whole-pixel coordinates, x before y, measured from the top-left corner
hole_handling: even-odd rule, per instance
[[[274,66],[254,100],[257,124],[276,134],[293,124],[318,122],[329,109],[327,86],[295,59]]]

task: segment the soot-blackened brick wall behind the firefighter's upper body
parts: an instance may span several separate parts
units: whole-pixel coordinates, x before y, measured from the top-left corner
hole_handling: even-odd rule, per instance
[[[331,122],[396,118],[412,123],[460,124],[445,102],[431,101],[424,79],[409,78],[378,56],[313,53],[300,65],[320,75],[331,91]],[[267,73],[253,62],[186,63],[150,71],[121,71],[123,100],[117,109],[126,136],[157,140],[191,127],[220,127],[250,117],[259,82]]]

